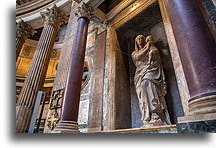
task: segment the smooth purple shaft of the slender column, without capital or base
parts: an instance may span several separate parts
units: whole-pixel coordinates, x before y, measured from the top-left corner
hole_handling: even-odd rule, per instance
[[[76,38],[71,55],[68,80],[65,89],[65,97],[61,117],[62,121],[77,122],[87,33],[87,18],[79,18]]]

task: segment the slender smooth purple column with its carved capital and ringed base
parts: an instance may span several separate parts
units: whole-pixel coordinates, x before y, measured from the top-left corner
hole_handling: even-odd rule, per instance
[[[92,9],[85,3],[81,3],[75,15],[78,17],[78,28],[72,48],[61,118],[53,130],[55,133],[79,132],[77,119],[79,112],[88,24],[90,18],[92,17]]]

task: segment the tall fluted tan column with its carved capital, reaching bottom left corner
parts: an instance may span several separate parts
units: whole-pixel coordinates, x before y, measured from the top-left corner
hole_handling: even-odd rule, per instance
[[[41,12],[41,16],[44,28],[16,104],[16,131],[18,133],[28,131],[37,92],[43,87],[59,26],[67,19],[56,5]]]

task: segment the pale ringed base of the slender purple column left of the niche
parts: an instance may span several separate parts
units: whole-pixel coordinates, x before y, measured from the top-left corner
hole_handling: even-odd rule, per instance
[[[80,131],[76,122],[60,121],[51,133],[80,133]]]

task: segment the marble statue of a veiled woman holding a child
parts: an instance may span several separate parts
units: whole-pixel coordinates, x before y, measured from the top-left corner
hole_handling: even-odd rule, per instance
[[[166,83],[158,48],[153,37],[138,35],[131,54],[136,65],[134,84],[139,98],[143,127],[169,125],[165,102]]]

